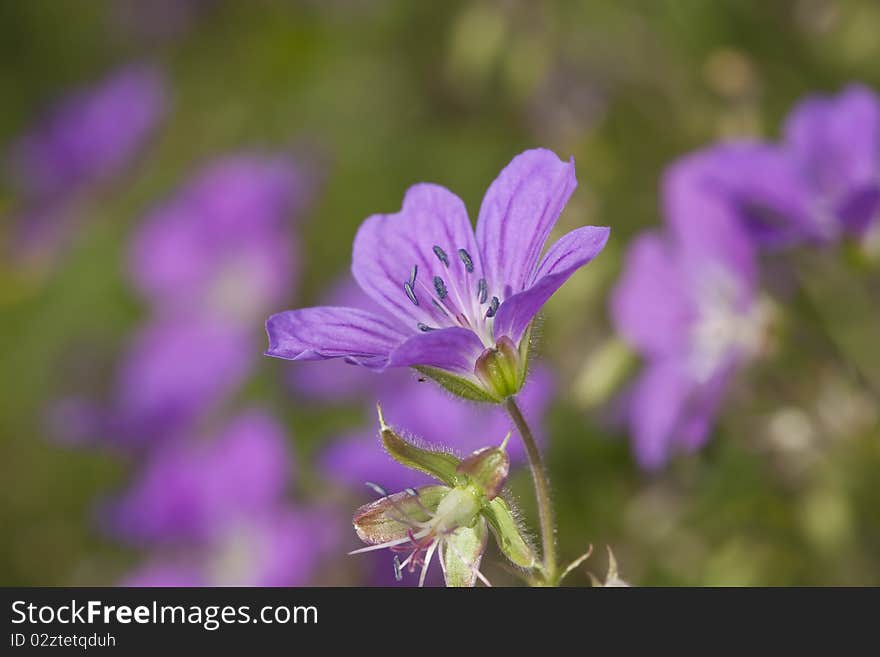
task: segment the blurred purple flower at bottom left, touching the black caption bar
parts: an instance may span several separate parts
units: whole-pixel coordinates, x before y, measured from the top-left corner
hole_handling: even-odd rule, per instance
[[[132,487],[104,509],[108,530],[155,552],[136,586],[293,586],[308,581],[338,538],[333,514],[285,500],[292,458],[258,410],[213,441],[155,450]]]

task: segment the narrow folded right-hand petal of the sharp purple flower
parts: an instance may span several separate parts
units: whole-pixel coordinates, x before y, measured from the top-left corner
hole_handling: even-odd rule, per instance
[[[564,235],[550,247],[526,290],[501,304],[495,317],[495,338],[518,342],[541,307],[580,267],[595,258],[608,242],[610,229],[584,226]]]

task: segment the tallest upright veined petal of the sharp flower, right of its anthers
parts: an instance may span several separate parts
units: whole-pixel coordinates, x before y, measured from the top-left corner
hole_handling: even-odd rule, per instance
[[[504,300],[529,284],[544,243],[577,180],[574,160],[544,149],[517,155],[489,186],[477,220],[477,242],[490,295]]]

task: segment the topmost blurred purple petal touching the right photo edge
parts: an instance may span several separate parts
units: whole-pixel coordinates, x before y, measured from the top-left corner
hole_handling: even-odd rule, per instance
[[[852,85],[838,96],[813,96],[795,107],[785,140],[809,183],[829,200],[880,172],[880,99]]]

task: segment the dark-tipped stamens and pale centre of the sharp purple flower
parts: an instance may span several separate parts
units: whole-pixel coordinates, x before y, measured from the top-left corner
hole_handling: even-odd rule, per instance
[[[477,278],[473,258],[466,249],[457,250],[458,261],[450,259],[436,244],[431,250],[443,267],[440,273],[447,273],[420,277],[419,266],[413,265],[409,280],[403,282],[407,299],[421,311],[416,328],[428,332],[460,326],[476,333],[485,346],[493,346],[493,318],[501,300],[489,298],[489,285],[485,278]]]

